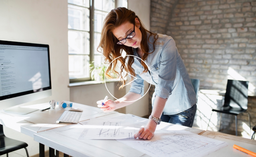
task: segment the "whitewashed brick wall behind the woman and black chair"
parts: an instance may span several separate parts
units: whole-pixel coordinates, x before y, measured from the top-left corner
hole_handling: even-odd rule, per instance
[[[224,90],[227,79],[238,79],[248,80],[249,90],[256,93],[255,0],[151,0],[150,30],[173,37],[190,78],[200,79],[200,89]],[[205,101],[201,105],[200,114],[207,114]],[[256,99],[250,97],[252,125],[255,110]],[[216,116],[211,119],[215,129]],[[223,115],[222,121],[223,129],[234,131],[233,116]],[[247,121],[246,114],[238,116],[240,131]]]

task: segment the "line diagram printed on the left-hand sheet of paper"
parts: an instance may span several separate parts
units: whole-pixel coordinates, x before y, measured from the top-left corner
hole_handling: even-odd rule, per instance
[[[102,126],[114,126],[114,128],[101,128],[99,129],[99,137],[106,136],[106,135],[112,135],[116,136],[119,135],[120,130],[120,123],[113,123],[113,122],[103,122]]]

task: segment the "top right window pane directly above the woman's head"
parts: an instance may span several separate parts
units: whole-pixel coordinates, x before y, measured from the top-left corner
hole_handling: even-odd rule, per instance
[[[94,8],[98,10],[110,12],[113,8],[115,8],[115,1],[114,0],[94,0]]]

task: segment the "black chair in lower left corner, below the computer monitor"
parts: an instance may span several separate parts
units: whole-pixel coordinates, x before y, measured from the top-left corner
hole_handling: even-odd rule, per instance
[[[27,157],[29,157],[26,149],[27,146],[25,142],[6,137],[3,133],[3,125],[0,124],[0,155],[6,154],[8,157],[8,153],[24,148]]]

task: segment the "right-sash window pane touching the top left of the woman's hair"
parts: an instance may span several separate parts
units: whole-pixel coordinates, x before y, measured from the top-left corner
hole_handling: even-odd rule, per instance
[[[94,31],[95,32],[101,32],[104,19],[108,13],[102,12],[102,11],[94,11]]]

